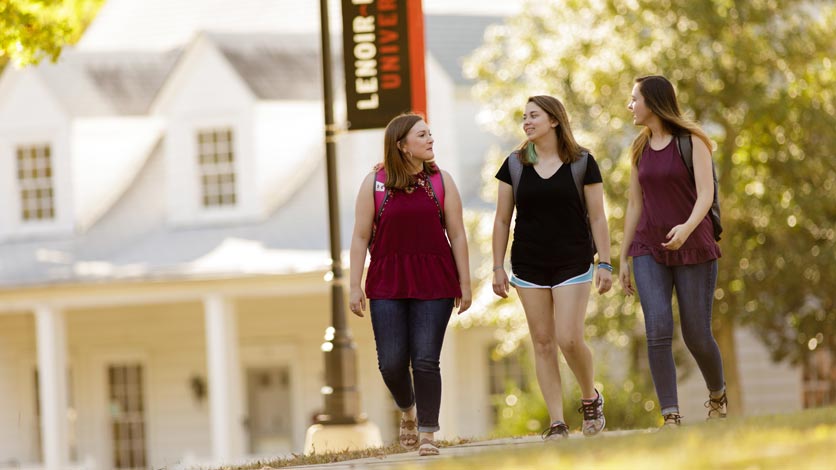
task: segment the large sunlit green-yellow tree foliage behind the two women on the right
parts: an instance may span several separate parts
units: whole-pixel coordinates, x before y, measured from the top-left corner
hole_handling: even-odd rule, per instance
[[[638,132],[633,80],[671,78],[716,142],[726,231],[715,318],[753,326],[776,359],[803,361],[836,351],[834,53],[832,1],[538,1],[489,30],[465,71],[500,135],[523,138],[530,95],[566,104],[604,173],[615,261]],[[635,299],[618,287],[593,297],[588,333],[622,346],[641,335]]]

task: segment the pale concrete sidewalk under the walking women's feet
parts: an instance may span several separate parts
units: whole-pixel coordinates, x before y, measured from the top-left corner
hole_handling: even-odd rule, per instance
[[[636,431],[605,431],[601,437],[596,439],[606,438],[607,436],[621,436],[625,434],[635,433]],[[585,439],[581,433],[572,433],[569,439]],[[453,447],[441,448],[441,453],[433,457],[421,457],[418,451],[404,452],[402,454],[392,454],[382,457],[368,457],[364,459],[348,460],[345,462],[335,462],[329,464],[318,465],[300,465],[293,467],[293,469],[304,470],[358,470],[358,469],[374,469],[374,470],[390,470],[399,469],[406,466],[420,467],[430,464],[437,464],[440,460],[456,460],[461,457],[471,456],[475,454],[488,452],[514,452],[516,450],[538,447],[548,445],[540,436],[525,436],[525,437],[511,437],[504,439],[494,439],[490,441],[471,442]],[[265,467],[269,469],[270,467]],[[264,469],[262,469],[264,470]]]

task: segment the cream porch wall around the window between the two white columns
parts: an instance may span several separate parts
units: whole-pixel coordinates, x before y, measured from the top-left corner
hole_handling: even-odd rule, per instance
[[[207,405],[191,396],[189,378],[205,377],[200,304],[149,305],[72,311],[68,343],[78,359],[79,456],[110,464],[107,414],[108,364],[144,365],[146,434],[150,464],[157,468],[189,454],[208,454]]]

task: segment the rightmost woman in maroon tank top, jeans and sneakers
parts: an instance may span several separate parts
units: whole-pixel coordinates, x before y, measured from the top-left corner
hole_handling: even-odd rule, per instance
[[[673,289],[682,337],[705,379],[708,419],[726,417],[720,349],[711,333],[711,307],[720,247],[708,211],[714,198],[711,141],[682,117],[673,85],[652,75],[636,80],[627,106],[644,126],[633,141],[619,278],[627,295],[638,290],[645,318],[650,372],[665,427],[680,424],[673,361]],[[693,146],[693,177],[677,136]],[[630,263],[636,289],[630,281]]]

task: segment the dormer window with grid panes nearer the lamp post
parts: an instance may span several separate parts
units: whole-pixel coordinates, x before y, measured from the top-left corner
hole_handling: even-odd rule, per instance
[[[197,133],[198,171],[203,207],[235,206],[235,152],[232,129]]]

